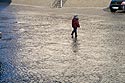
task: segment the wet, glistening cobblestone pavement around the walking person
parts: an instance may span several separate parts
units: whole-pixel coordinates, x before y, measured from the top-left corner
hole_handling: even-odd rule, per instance
[[[103,8],[1,10],[0,83],[125,83],[124,17]]]

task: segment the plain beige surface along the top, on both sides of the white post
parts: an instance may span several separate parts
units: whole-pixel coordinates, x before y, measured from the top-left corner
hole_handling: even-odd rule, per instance
[[[52,7],[55,0],[12,0],[13,3]],[[64,0],[65,1],[65,0]],[[106,7],[111,0],[66,0],[64,7]]]

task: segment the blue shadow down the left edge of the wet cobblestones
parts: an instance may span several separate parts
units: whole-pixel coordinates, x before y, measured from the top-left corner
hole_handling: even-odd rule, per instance
[[[1,0],[0,0],[1,2]],[[2,39],[0,40],[0,83],[15,83],[16,68],[13,63],[16,61],[17,48],[17,32],[15,12],[16,7],[10,5],[10,2],[0,3],[0,32]],[[15,31],[15,29],[17,31]]]

